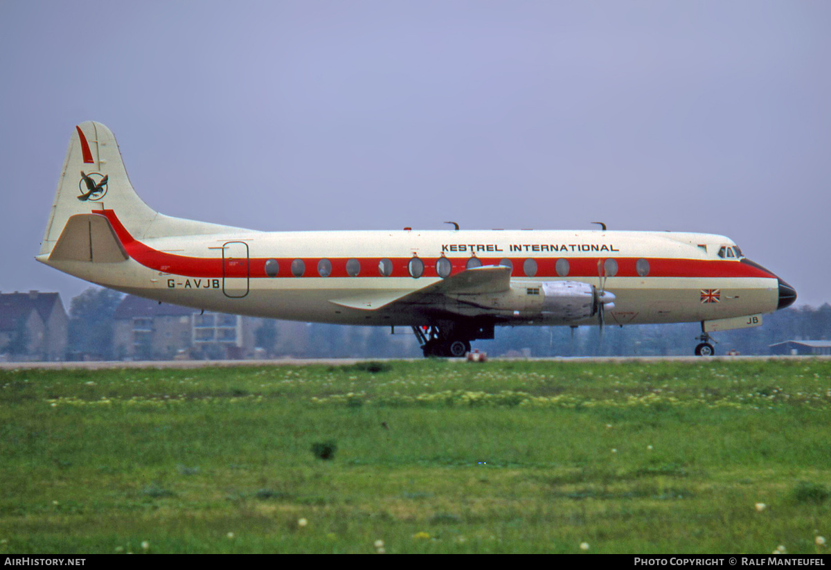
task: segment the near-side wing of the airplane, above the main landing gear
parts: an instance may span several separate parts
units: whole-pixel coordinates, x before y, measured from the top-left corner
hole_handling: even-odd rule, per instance
[[[405,305],[436,304],[442,297],[458,295],[481,295],[483,293],[504,292],[510,288],[511,268],[501,265],[488,265],[465,269],[449,278],[430,283],[416,291],[363,292],[355,297],[331,299],[330,302],[354,309],[376,311],[382,307]]]

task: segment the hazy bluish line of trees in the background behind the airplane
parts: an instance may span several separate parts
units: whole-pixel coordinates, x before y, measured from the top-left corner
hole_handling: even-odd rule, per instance
[[[71,300],[69,350],[113,353],[113,314],[123,296],[91,287]],[[263,356],[278,358],[417,357],[420,348],[406,327],[298,325],[260,319],[254,336]],[[404,334],[401,334],[404,333]],[[473,347],[492,356],[685,356],[701,334],[698,323],[617,327],[497,327],[494,340]],[[789,307],[764,316],[761,327],[713,334],[716,354],[770,354],[770,345],[788,340],[831,339],[831,305]]]

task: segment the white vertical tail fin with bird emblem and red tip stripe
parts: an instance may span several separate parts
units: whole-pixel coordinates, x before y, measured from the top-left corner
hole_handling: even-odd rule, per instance
[[[236,229],[171,218],[151,209],[135,194],[112,131],[101,123],[86,121],[76,126],[70,137],[52,213],[37,257],[52,253],[73,216],[103,209],[112,210],[121,225],[137,239]]]

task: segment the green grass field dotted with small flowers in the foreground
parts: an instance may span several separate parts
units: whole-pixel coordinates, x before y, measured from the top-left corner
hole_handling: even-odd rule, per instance
[[[831,362],[0,371],[0,477],[0,553],[825,553]]]

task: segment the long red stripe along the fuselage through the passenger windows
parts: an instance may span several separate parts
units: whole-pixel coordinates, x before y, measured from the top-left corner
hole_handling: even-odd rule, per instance
[[[183,277],[197,278],[222,278],[222,277],[246,277],[245,264],[229,263],[223,272],[223,260],[221,258],[192,258],[184,255],[160,252],[156,249],[141,243],[133,238],[130,232],[121,224],[113,210],[93,210],[93,214],[106,216],[121,240],[126,252],[131,258],[147,268],[164,273],[173,273]],[[229,238],[229,241],[234,241]],[[265,263],[269,258],[249,258],[248,270],[251,278],[268,278],[265,273]],[[291,271],[291,263],[294,258],[274,258],[279,264],[280,271],[277,278],[294,278]],[[345,278],[347,274],[347,261],[349,258],[328,258],[332,262],[332,273],[329,277]],[[361,262],[361,273],[359,277],[380,277],[378,273],[378,258],[358,258]],[[390,258],[392,262],[391,277],[410,277],[407,264],[411,258]],[[438,277],[435,263],[439,258],[420,258],[424,262],[424,277]],[[452,267],[451,274],[460,273],[466,268],[468,258],[448,258]],[[504,258],[479,258],[483,265],[497,265]],[[514,263],[515,278],[524,278],[534,281],[539,278],[560,278],[555,269],[558,258],[534,258],[537,261],[537,274],[533,277],[525,277],[523,273],[523,262],[526,258],[509,258]],[[605,259],[605,258],[601,258]],[[615,258],[617,260],[616,277],[637,278],[637,258]],[[306,264],[304,277],[316,278],[317,262],[321,258],[302,258]],[[598,258],[568,258],[570,270],[566,278],[598,278]],[[671,278],[768,278],[775,279],[776,276],[755,268],[747,263],[725,260],[706,259],[676,259],[676,258],[650,258],[649,277],[671,277]],[[232,267],[233,265],[233,267]]]

